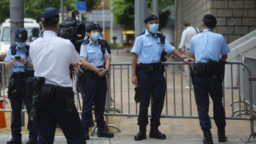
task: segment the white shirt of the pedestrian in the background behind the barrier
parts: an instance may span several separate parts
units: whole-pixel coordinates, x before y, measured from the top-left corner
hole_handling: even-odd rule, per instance
[[[183,48],[185,45],[185,49],[190,49],[190,41],[193,36],[197,35],[197,32],[199,33],[198,28],[196,31],[195,28],[191,26],[188,26],[185,30],[183,30],[179,48]]]

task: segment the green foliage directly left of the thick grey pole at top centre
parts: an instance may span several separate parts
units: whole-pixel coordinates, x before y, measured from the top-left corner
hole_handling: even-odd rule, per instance
[[[124,30],[134,30],[135,1],[111,0],[114,22]]]

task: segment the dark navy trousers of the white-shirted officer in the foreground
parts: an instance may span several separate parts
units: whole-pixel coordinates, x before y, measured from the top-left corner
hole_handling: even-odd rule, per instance
[[[62,129],[67,143],[86,144],[85,132],[82,129],[75,104],[73,105],[73,111],[69,112],[66,108],[65,99],[53,103],[39,100],[37,108],[39,144],[53,143],[57,123]]]

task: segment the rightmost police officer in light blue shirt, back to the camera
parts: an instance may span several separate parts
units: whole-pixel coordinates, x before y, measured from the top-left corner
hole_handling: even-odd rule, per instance
[[[225,109],[222,104],[221,65],[231,51],[221,34],[213,33],[217,20],[214,15],[206,14],[201,23],[203,31],[191,40],[190,53],[195,56],[194,94],[201,129],[203,143],[213,143],[212,128],[209,112],[209,95],[213,100],[213,118],[217,126],[219,142],[225,142]]]

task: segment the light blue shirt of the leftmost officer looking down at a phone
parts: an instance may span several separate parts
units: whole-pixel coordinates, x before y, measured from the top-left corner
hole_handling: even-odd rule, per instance
[[[7,56],[4,59],[5,62],[11,61],[11,59],[14,58],[15,56],[20,56],[21,58],[26,59],[27,56],[25,55],[25,52],[26,52],[25,47],[23,47],[23,49],[20,50],[18,49],[18,46],[16,46],[15,49],[16,49],[16,55],[11,55],[11,49],[8,50]],[[27,57],[27,61],[31,62],[30,56]],[[12,65],[12,72],[25,72],[24,69],[25,69],[25,65],[23,63],[14,62],[14,64]],[[27,66],[27,70],[33,71],[33,68]]]

